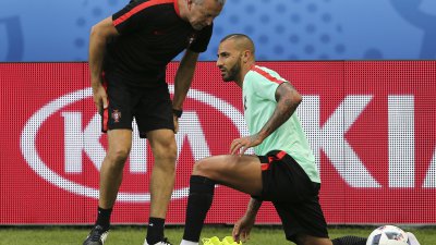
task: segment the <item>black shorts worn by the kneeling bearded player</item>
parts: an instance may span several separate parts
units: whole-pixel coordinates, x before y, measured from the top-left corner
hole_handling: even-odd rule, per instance
[[[296,243],[296,234],[328,237],[319,205],[319,183],[310,180],[300,164],[284,151],[258,156],[262,163],[262,196],[270,200],[283,224],[286,237]]]

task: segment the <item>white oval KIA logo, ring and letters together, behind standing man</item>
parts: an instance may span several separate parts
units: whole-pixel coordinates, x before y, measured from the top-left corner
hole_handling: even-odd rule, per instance
[[[173,86],[169,86],[170,91],[173,91]],[[93,198],[98,198],[98,188],[92,187],[92,186],[85,186],[81,183],[73,182],[69,180],[68,177],[61,175],[60,173],[53,171],[50,169],[46,162],[40,158],[38,151],[37,151],[37,134],[40,128],[40,126],[44,124],[46,120],[48,120],[50,117],[52,117],[55,113],[59,112],[62,108],[72,105],[76,101],[92,98],[93,93],[92,88],[85,88],[85,89],[80,89],[66,95],[63,95],[62,97],[59,97],[47,105],[45,105],[43,108],[40,108],[38,111],[36,111],[26,122],[26,124],[23,127],[23,131],[21,133],[21,139],[20,139],[20,146],[21,146],[21,152],[26,160],[27,164],[29,168],[35,171],[36,174],[38,174],[40,177],[46,180],[47,182],[65,189],[68,192],[81,195],[81,196],[87,196],[87,197],[93,197]],[[246,127],[244,126],[244,120],[243,115],[241,112],[235,109],[233,106],[228,103],[227,101],[215,97],[213,95],[196,90],[191,88],[187,97],[190,99],[197,100],[199,102],[203,102],[205,105],[210,106],[213,109],[215,109],[217,112],[222,113],[225,117],[230,119],[232,124],[238,128],[239,133],[241,135],[246,135],[247,131]],[[99,143],[100,140],[100,122],[101,119],[98,114],[95,114],[94,118],[90,120],[90,122],[86,125],[86,127],[81,132],[82,128],[82,114],[81,112],[60,112],[62,117],[64,118],[64,127],[72,127],[68,128],[65,132],[65,164],[64,170],[69,171],[70,173],[78,173],[83,171],[83,163],[82,163],[82,152],[84,151],[93,162],[93,164],[96,167],[97,170],[100,169],[102,159],[106,155],[106,150]],[[190,114],[190,113],[187,113]],[[198,118],[195,114],[193,115],[194,118]],[[182,120],[183,121],[183,120]],[[197,120],[198,122],[198,120]],[[68,125],[66,125],[68,124]],[[197,123],[198,124],[198,123]],[[196,124],[193,124],[192,126],[195,126]],[[202,131],[203,132],[203,131]],[[138,135],[137,133],[133,132],[135,135]],[[81,135],[81,136],[80,136]],[[206,140],[204,139],[204,134],[201,133],[201,136],[196,135],[194,137],[191,137],[190,134],[185,133],[187,135],[189,142],[190,143],[195,143],[195,144],[201,144],[205,143]],[[182,137],[182,136],[180,136]],[[77,143],[76,140],[81,142],[80,138],[83,138],[83,143]],[[136,136],[133,136],[133,140],[138,140]],[[73,143],[73,144],[72,144]],[[132,147],[133,150],[133,167],[131,167],[132,172],[143,172],[146,171],[146,155],[145,155],[145,149],[146,149],[146,144],[134,144],[135,148]],[[207,145],[207,144],[205,144]],[[136,148],[140,147],[140,148]],[[195,146],[197,147],[197,146]],[[204,147],[201,148],[203,150],[207,149],[203,154],[195,155],[195,158],[202,158],[204,156],[208,156],[209,150],[208,148]],[[76,155],[77,154],[77,155]],[[80,157],[78,157],[80,156]],[[132,161],[132,159],[131,159]],[[142,162],[142,163],[141,163]],[[64,173],[63,173],[64,174]],[[180,187],[173,191],[172,193],[172,198],[173,199],[180,199],[180,198],[185,198],[189,194],[189,187]],[[126,193],[126,192],[120,192],[118,193],[117,201],[134,201],[134,203],[148,203],[150,199],[150,194],[149,193]]]

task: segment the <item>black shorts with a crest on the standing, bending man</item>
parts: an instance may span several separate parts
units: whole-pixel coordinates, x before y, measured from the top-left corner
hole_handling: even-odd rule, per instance
[[[172,102],[167,84],[158,87],[134,87],[126,85],[118,76],[104,75],[109,107],[101,111],[101,131],[132,130],[133,118],[140,137],[154,130],[174,131]]]

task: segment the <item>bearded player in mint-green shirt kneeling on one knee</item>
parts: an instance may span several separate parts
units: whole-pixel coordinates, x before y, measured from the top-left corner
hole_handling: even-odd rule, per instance
[[[252,196],[245,216],[234,224],[237,241],[249,237],[263,200],[269,200],[287,240],[298,245],[365,245],[362,237],[328,238],[315,158],[294,113],[302,96],[279,74],[255,64],[254,44],[245,35],[233,34],[221,40],[217,66],[225,82],[234,81],[242,88],[250,136],[234,139],[230,155],[194,164],[181,245],[198,244],[215,184]],[[251,147],[257,156],[244,155]]]

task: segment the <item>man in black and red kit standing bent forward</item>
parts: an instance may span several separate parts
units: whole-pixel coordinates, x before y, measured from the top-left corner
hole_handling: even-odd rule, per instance
[[[132,147],[132,120],[147,138],[155,163],[150,180],[150,216],[144,244],[170,244],[164,224],[174,185],[174,132],[191,86],[198,53],[206,50],[213,21],[226,0],[131,0],[93,26],[89,70],[94,102],[108,133],[100,169],[98,216],[84,245],[105,243],[110,215]],[[180,52],[171,102],[166,66]]]

